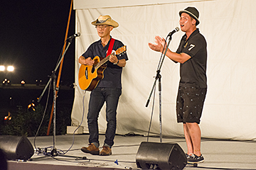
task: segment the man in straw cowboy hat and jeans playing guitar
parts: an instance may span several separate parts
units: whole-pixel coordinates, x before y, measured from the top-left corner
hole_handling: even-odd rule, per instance
[[[79,57],[79,63],[85,65],[93,65],[95,56],[107,57],[110,51],[123,47],[123,43],[114,40],[110,36],[113,28],[117,28],[119,24],[112,20],[110,16],[99,16],[96,21],[92,22],[96,27],[100,40],[93,42],[82,56]],[[112,145],[114,145],[114,135],[117,127],[117,105],[119,96],[122,94],[121,75],[122,67],[125,66],[128,57],[126,53],[122,55],[110,55],[107,62],[107,68],[104,70],[104,77],[97,84],[96,88],[90,94],[89,109],[87,113],[87,124],[90,132],[88,147],[82,147],[82,152],[90,154],[110,155],[112,154]],[[99,131],[97,119],[100,109],[106,102],[106,119],[107,130],[105,132],[105,142],[103,149],[99,149]]]

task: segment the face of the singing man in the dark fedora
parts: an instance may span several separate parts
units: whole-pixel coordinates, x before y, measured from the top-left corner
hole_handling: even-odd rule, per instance
[[[196,20],[194,18],[191,18],[188,13],[181,13],[179,23],[181,26],[181,30],[183,32],[187,32],[188,30],[191,30],[191,28],[196,24]]]

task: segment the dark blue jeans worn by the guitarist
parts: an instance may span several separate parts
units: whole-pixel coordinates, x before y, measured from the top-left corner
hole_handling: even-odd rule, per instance
[[[122,89],[96,87],[90,94],[87,123],[90,132],[89,142],[99,144],[98,117],[100,109],[106,101],[107,130],[105,132],[105,144],[114,145],[114,135],[117,129],[117,105]]]

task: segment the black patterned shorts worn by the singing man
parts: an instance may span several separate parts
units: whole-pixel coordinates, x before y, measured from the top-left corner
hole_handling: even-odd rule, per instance
[[[178,123],[200,123],[206,88],[178,87],[176,114]]]

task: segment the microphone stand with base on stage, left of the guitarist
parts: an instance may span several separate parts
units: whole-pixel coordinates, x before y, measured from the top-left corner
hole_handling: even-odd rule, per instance
[[[75,38],[75,37],[73,37],[73,38]],[[66,46],[65,51],[63,52],[63,55],[60,57],[58,64],[56,64],[55,69],[52,71],[52,75],[50,76],[48,83],[46,84],[45,88],[43,89],[41,96],[38,98],[38,103],[39,103],[43,97],[43,94],[45,93],[46,89],[48,88],[50,82],[53,81],[53,149],[50,152],[50,155],[52,157],[56,157],[58,155],[60,156],[60,154],[58,154],[58,152],[57,152],[57,148],[55,147],[55,143],[56,143],[56,139],[55,139],[55,137],[56,137],[56,91],[58,91],[58,89],[55,86],[55,82],[56,82],[55,73],[56,73],[58,67],[60,66],[60,63],[63,60],[63,57],[64,57],[65,53],[67,52],[68,47],[70,46],[73,38],[68,38],[66,40],[68,42],[68,45]],[[64,155],[61,155],[61,156],[64,156]],[[68,157],[68,156],[65,156],[65,157]],[[70,156],[70,157],[72,157],[72,156]],[[86,157],[81,157],[80,159],[86,159]]]

